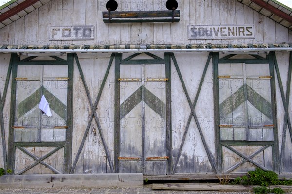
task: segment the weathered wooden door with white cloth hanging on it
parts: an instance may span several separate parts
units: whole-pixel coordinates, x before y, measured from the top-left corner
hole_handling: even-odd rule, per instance
[[[67,65],[18,65],[13,126],[16,174],[64,171],[67,77]],[[51,117],[38,108],[42,95]]]

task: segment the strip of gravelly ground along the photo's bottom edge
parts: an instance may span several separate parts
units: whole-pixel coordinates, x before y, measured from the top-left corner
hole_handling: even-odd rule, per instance
[[[250,194],[249,192],[211,192],[211,191],[170,191],[152,190],[151,185],[143,188],[123,189],[69,189],[69,188],[25,188],[25,189],[0,189],[0,194]]]

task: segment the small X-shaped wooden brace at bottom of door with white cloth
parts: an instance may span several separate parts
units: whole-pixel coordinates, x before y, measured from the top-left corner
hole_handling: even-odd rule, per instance
[[[52,170],[54,173],[56,174],[62,174],[62,172],[58,171],[57,169],[55,169],[53,166],[49,165],[47,162],[44,162],[43,160],[45,160],[46,158],[48,158],[49,156],[51,156],[52,154],[54,154],[55,152],[57,152],[59,149],[61,149],[62,147],[64,147],[65,145],[62,146],[58,146],[56,147],[53,151],[50,151],[49,153],[47,153],[46,155],[42,156],[42,157],[37,157],[36,155],[32,154],[30,151],[28,151],[27,149],[21,147],[21,146],[17,146],[16,147],[18,149],[20,149],[21,151],[23,151],[24,153],[26,153],[27,155],[29,155],[30,157],[32,157],[34,160],[36,160],[36,162],[34,162],[33,164],[25,167],[24,169],[22,169],[21,171],[18,172],[18,175],[24,173],[25,171],[33,168],[34,166],[36,166],[37,164],[42,164],[44,166],[46,166],[47,168],[49,168],[50,170]]]

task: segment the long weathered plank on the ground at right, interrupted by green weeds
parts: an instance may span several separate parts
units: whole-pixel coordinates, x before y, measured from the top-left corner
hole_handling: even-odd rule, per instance
[[[192,190],[192,191],[253,191],[255,185],[220,185],[216,183],[173,183],[173,184],[152,184],[155,190]],[[291,186],[274,185],[271,189],[281,187],[284,191],[292,191]]]

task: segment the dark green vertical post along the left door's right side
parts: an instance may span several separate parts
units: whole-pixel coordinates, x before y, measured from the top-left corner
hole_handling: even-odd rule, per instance
[[[67,130],[66,130],[66,146],[64,151],[64,173],[71,171],[71,152],[72,152],[72,130],[73,130],[73,78],[74,78],[74,55],[67,55],[68,63],[68,92],[67,92]]]

